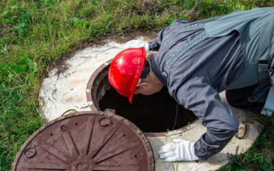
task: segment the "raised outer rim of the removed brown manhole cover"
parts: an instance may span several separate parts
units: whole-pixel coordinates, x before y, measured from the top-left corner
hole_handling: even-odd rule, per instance
[[[153,150],[152,150],[151,144],[149,143],[149,140],[147,140],[146,135],[130,120],[127,120],[126,118],[123,118],[121,116],[114,114],[113,110],[111,109],[106,109],[105,111],[77,111],[76,113],[73,113],[73,114],[60,116],[60,118],[56,118],[55,120],[52,120],[51,122],[48,122],[47,124],[42,125],[42,127],[40,127],[38,130],[36,130],[32,135],[30,135],[27,138],[27,140],[21,146],[20,150],[18,150],[16,157],[14,158],[14,161],[12,163],[11,170],[16,170],[16,166],[18,164],[20,157],[24,154],[24,150],[27,149],[26,147],[29,145],[29,143],[31,143],[32,140],[34,140],[34,138],[37,135],[39,135],[41,131],[43,131],[44,129],[47,129],[47,127],[50,127],[51,124],[55,124],[55,122],[61,122],[62,120],[65,120],[66,118],[72,118],[73,116],[84,116],[84,115],[109,116],[110,118],[119,120],[119,122],[122,122],[123,124],[125,124],[129,129],[132,129],[135,135],[137,135],[138,138],[141,140],[142,146],[145,148],[147,152],[147,162],[148,162],[148,166],[150,166],[149,168],[151,170],[155,170]]]

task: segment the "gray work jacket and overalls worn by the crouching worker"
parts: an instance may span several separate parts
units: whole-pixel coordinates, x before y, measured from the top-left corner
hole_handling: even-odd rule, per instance
[[[258,8],[196,23],[178,20],[149,42],[158,51],[151,59],[155,74],[208,128],[195,143],[200,159],[219,153],[238,131],[219,92],[259,83],[249,100],[265,102],[274,86],[273,34],[274,8]]]

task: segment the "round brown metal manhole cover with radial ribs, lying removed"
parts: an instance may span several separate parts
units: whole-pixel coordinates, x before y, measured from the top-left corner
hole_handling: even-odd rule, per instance
[[[41,127],[12,170],[154,170],[147,137],[114,112],[77,112]]]

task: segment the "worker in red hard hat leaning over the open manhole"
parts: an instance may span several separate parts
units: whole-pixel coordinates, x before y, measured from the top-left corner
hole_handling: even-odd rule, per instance
[[[108,78],[129,98],[163,86],[207,128],[197,142],[175,139],[159,150],[165,161],[207,160],[238,132],[221,101],[271,116],[274,111],[274,8],[233,12],[189,23],[174,21],[152,42],[132,40],[110,64]],[[151,53],[155,51],[155,53]]]

